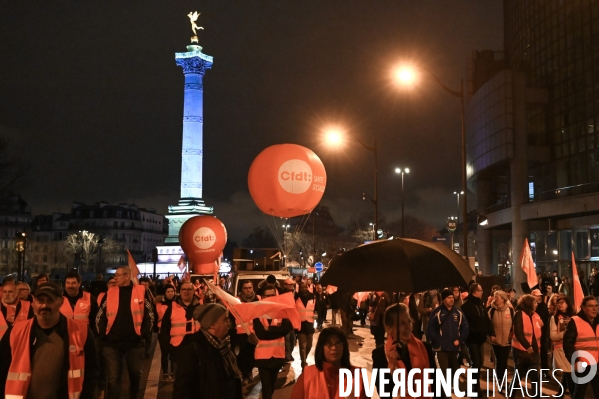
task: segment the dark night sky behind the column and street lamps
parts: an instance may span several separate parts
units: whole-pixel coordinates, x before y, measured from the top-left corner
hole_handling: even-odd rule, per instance
[[[322,200],[341,226],[372,217],[373,156],[328,148],[345,127],[380,146],[381,216],[442,227],[461,186],[459,101],[424,79],[392,84],[402,61],[459,87],[473,50],[502,50],[499,0],[11,1],[0,13],[0,134],[31,171],[18,187],[34,214],[71,202],[133,202],[166,213],[179,199],[183,73],[174,53],[199,11],[204,77],[204,199],[241,240],[265,219],[247,189],[254,157],[278,143],[315,151]],[[425,78],[425,77],[424,77]],[[470,209],[475,207],[469,197]]]

